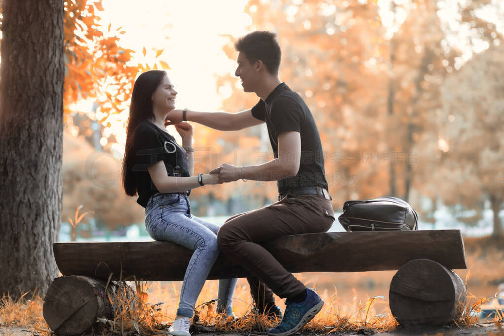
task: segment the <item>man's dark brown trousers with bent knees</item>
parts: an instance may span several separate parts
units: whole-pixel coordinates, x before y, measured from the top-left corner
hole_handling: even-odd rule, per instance
[[[334,222],[330,199],[287,194],[272,205],[237,214],[217,232],[217,243],[230,259],[239,262],[258,306],[274,304],[273,293],[287,298],[306,287],[258,243],[281,236],[327,232]],[[255,293],[255,292],[258,293]]]

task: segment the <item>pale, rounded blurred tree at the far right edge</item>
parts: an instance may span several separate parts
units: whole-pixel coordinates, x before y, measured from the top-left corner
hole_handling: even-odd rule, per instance
[[[490,46],[443,83],[444,108],[436,125],[444,146],[437,163],[438,197],[478,212],[489,201],[494,236],[503,233],[497,215],[504,200],[503,54],[502,46]]]

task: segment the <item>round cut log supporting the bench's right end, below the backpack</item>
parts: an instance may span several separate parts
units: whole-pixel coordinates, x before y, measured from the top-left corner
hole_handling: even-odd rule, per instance
[[[450,324],[466,301],[462,279],[444,265],[415,259],[405,263],[390,284],[390,310],[401,326]]]

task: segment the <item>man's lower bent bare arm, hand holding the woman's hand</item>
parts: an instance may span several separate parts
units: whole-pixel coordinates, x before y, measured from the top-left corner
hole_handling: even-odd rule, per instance
[[[241,177],[251,180],[271,181],[284,177],[296,176],[301,161],[301,136],[298,131],[283,131],[277,135],[278,158],[260,165],[235,167],[223,163],[220,167],[212,169],[210,173],[219,172],[224,182]]]

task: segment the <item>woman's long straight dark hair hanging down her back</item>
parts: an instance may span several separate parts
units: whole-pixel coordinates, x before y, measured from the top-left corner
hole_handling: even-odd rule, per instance
[[[161,84],[164,76],[166,76],[164,70],[149,70],[138,76],[133,85],[121,171],[122,188],[124,192],[130,196],[135,196],[137,194],[135,176],[133,175],[130,165],[130,158],[135,155],[135,153],[133,153],[133,143],[135,140],[133,131],[142,121],[154,118],[151,97],[159,84]]]

